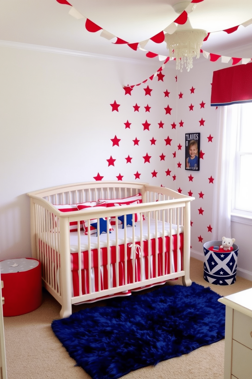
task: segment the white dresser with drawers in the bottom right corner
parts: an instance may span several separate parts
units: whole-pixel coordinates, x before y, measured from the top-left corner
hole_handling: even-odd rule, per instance
[[[224,379],[252,379],[252,288],[218,301],[226,305]]]

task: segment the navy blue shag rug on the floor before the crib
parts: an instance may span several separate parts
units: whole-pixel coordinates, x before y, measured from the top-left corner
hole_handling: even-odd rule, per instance
[[[54,334],[93,379],[116,379],[224,338],[220,295],[196,283],[110,299],[104,307],[51,324]]]

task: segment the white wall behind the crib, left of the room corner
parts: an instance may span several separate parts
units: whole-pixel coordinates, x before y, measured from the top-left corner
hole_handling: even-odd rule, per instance
[[[157,79],[150,81],[151,97],[145,96],[146,85],[136,87],[134,96],[122,88],[150,77],[159,62],[144,65],[12,47],[1,47],[0,54],[0,251],[5,259],[31,256],[26,192],[94,180],[98,172],[104,180],[121,174],[134,181],[138,170],[138,181],[150,182],[160,159],[159,147],[149,140],[158,139],[160,107],[167,103],[155,101],[165,91]],[[119,112],[112,112],[114,100],[121,104]],[[134,112],[136,102],[139,112]],[[147,103],[152,108],[146,114]],[[127,119],[130,129],[125,129]],[[143,131],[146,119],[150,131]],[[112,147],[115,135],[120,147]],[[136,137],[140,143],[134,147]],[[152,155],[151,164],[144,164],[146,153]],[[132,164],[126,164],[128,154]],[[114,166],[108,166],[111,155]],[[153,180],[161,185],[160,178]]]

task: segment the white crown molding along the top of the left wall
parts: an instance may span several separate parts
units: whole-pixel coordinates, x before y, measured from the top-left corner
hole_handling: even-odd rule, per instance
[[[50,46],[42,46],[42,45],[33,45],[33,44],[26,44],[23,42],[12,42],[12,41],[3,41],[0,40],[0,46],[2,47],[12,47],[15,49],[25,49],[25,50],[33,50],[33,51],[40,51],[40,52],[46,52],[46,53],[56,53],[56,54],[65,54],[65,55],[74,55],[74,56],[80,56],[85,58],[93,58],[93,59],[100,59],[100,60],[108,60],[108,61],[116,61],[116,62],[123,62],[123,63],[132,63],[132,64],[141,64],[145,66],[154,66],[156,67],[158,63],[155,61],[148,60],[140,60],[140,59],[133,59],[133,58],[123,58],[120,56],[112,56],[112,55],[105,55],[105,54],[96,54],[96,53],[88,53],[83,52],[79,50],[68,50],[68,49],[60,49],[58,47],[50,47]],[[162,64],[162,62],[160,62]]]

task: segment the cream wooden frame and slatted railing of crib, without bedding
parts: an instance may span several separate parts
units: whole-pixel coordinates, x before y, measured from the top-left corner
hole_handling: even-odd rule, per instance
[[[51,190],[37,191],[37,193],[29,194],[31,196],[31,236],[33,246],[33,257],[36,257],[42,263],[42,279],[47,290],[56,298],[62,305],[60,315],[66,317],[71,314],[71,305],[82,301],[88,301],[102,296],[108,296],[118,291],[133,290],[138,287],[153,285],[157,282],[166,281],[182,276],[183,284],[190,285],[189,277],[189,258],[190,258],[190,201],[193,198],[178,194],[175,191],[164,187],[152,187],[146,184],[139,183],[131,187],[121,187],[117,183],[113,187],[105,187],[104,183],[98,183],[98,188],[90,188],[90,183],[87,188],[77,188],[79,185],[71,185],[69,191],[60,192],[59,188]],[[97,183],[95,183],[97,185]],[[130,183],[132,185],[132,183]],[[83,186],[82,186],[83,187]],[[52,204],[77,204],[78,202],[93,201],[99,198],[122,198],[132,196],[138,192],[142,193],[143,203],[138,205],[127,205],[123,207],[104,208],[99,211],[94,209],[86,209],[82,211],[62,213],[58,211]],[[40,193],[39,193],[40,192]],[[47,192],[47,194],[45,194]],[[56,193],[55,193],[56,192]],[[45,199],[46,197],[46,199]],[[57,200],[57,201],[56,201]],[[71,200],[71,201],[70,201]],[[118,237],[118,216],[140,213],[140,234],[136,240],[135,227],[131,228],[131,266],[132,276],[128,280],[128,256],[129,247],[128,228],[124,229],[124,278],[120,282],[119,277],[119,237]],[[147,220],[147,236],[146,230],[143,231],[142,215]],[[90,219],[107,218],[107,229],[109,226],[109,218],[115,217],[115,284],[111,280],[111,241],[110,233],[107,233],[107,283],[108,286],[102,289],[100,274],[98,274],[98,288],[92,291],[91,282],[91,233]],[[133,216],[134,218],[134,216]],[[81,230],[82,220],[88,221],[88,288],[87,293],[83,293],[82,282],[82,260],[83,249],[80,243],[80,236],[83,233]],[[153,241],[151,242],[150,219],[155,222],[155,252],[152,255]],[[72,294],[72,279],[71,279],[71,254],[70,254],[70,230],[69,223],[77,221],[77,249],[74,254],[78,255],[78,278],[79,291],[77,296]],[[134,221],[134,220],[133,220]],[[169,230],[165,225],[169,223]],[[173,239],[172,224],[176,226],[176,257],[173,257]],[[133,223],[134,225],[134,223]],[[159,230],[158,230],[159,225]],[[161,225],[161,226],[160,226]],[[180,231],[183,231],[183,248],[181,247]],[[166,238],[169,237],[169,249],[166,246]],[[160,249],[160,238],[162,240],[161,257],[162,262],[158,262],[158,249]],[[144,241],[147,240],[148,254],[147,257],[142,255],[139,257],[139,252],[143,251]],[[100,241],[99,222],[97,223],[97,252],[100,252],[104,242]],[[138,247],[139,246],[139,247]],[[182,256],[181,256],[182,249]],[[169,250],[169,252],[167,251]],[[165,255],[166,254],[166,255]],[[102,268],[101,255],[97,254],[97,271],[100,273]],[[136,272],[135,262],[138,259],[140,263],[140,278]],[[144,259],[147,259],[147,274],[144,271]],[[153,261],[155,260],[155,262]],[[174,259],[178,262],[178,267],[175,270],[173,267]],[[169,268],[167,268],[169,262]],[[159,263],[159,265],[158,265]],[[152,267],[155,266],[155,272]],[[159,267],[159,268],[158,268]]]

